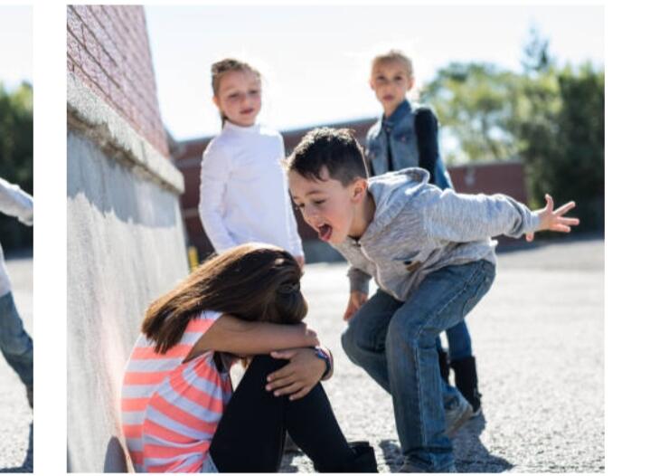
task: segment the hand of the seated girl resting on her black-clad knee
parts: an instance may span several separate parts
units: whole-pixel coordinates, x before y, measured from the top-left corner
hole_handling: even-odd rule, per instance
[[[307,395],[325,373],[325,361],[316,357],[313,348],[278,350],[271,352],[271,357],[284,358],[289,363],[267,376],[266,389],[276,396],[289,395],[289,400]]]

